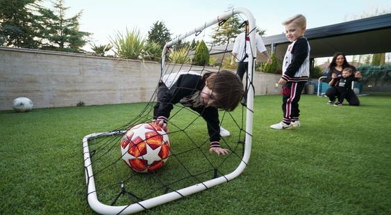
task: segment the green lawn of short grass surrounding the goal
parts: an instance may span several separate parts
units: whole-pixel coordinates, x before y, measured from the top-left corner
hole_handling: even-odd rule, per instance
[[[329,106],[303,95],[301,127],[276,131],[269,125],[281,120],[281,96],[256,97],[242,175],[144,213],[391,214],[391,94],[360,101]],[[81,140],[124,125],[144,106],[0,111],[0,214],[94,214],[85,199]]]

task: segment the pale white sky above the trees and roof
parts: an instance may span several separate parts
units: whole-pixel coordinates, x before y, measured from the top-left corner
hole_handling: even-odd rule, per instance
[[[46,0],[44,6],[50,6]],[[163,21],[174,35],[191,31],[224,13],[228,6],[247,8],[265,36],[283,32],[286,18],[301,13],[307,18],[307,29],[352,20],[364,13],[391,9],[390,0],[65,0],[67,17],[83,10],[80,30],[92,34],[92,42],[110,42],[117,31],[140,29],[147,36],[153,22]]]

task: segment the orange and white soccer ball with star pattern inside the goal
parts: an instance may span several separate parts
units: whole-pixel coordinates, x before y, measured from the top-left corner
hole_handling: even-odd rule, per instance
[[[154,123],[142,123],[122,137],[121,154],[125,164],[139,173],[151,173],[169,157],[169,140],[165,131]]]

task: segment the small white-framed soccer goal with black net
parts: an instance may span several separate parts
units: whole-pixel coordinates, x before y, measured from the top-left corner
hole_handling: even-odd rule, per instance
[[[248,23],[249,29],[252,29],[250,41],[256,41],[253,15],[245,8],[233,9],[168,42],[163,49],[161,77],[178,72],[200,75],[221,72],[222,65],[192,65],[196,47],[191,44],[208,40],[210,29],[223,26],[229,29],[232,19]],[[231,31],[234,30],[244,31],[232,26]],[[221,53],[223,59],[231,57],[228,45],[234,39],[235,34],[232,34],[222,44],[209,43],[209,53]],[[250,42],[247,49],[250,49],[251,59],[244,80],[248,90],[247,104],[240,104],[235,111],[218,111],[219,126],[231,133],[229,136],[222,135],[220,144],[230,153],[224,156],[210,154],[206,120],[194,109],[180,103],[172,104],[169,133],[156,127],[152,122],[159,92],[159,80],[156,80],[156,90],[138,116],[109,132],[88,134],[83,138],[87,200],[94,212],[140,212],[210,189],[233,180],[243,172],[251,152],[255,42]]]

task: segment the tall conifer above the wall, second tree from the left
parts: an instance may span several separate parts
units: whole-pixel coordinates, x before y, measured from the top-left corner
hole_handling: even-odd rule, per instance
[[[54,51],[81,52],[88,42],[91,33],[78,30],[78,20],[82,11],[76,13],[74,17],[65,18],[65,13],[69,9],[64,6],[64,0],[53,1],[53,10],[40,8],[42,14],[41,29],[44,40],[42,49]]]

